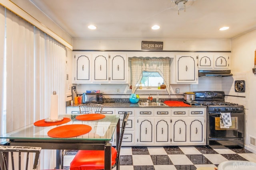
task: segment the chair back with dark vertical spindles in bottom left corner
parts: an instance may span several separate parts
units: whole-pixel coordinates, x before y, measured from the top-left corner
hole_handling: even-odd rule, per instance
[[[30,153],[35,153],[33,170],[37,170],[40,151],[40,147],[0,146],[0,160],[3,160],[3,162],[0,162],[0,170],[28,170],[29,158],[33,156]],[[8,160],[11,160],[11,162]],[[24,165],[22,164],[22,160],[26,160]]]

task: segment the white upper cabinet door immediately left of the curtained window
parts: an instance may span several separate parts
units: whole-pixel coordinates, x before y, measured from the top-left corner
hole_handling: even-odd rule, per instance
[[[110,82],[126,82],[126,55],[110,55]]]

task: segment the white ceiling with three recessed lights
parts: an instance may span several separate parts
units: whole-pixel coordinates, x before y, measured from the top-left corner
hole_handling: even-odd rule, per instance
[[[73,38],[230,39],[256,28],[256,0],[195,0],[179,15],[171,0],[31,1]]]

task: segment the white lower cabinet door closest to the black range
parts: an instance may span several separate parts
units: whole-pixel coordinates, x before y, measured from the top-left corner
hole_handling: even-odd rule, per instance
[[[204,118],[194,119],[190,122],[190,142],[204,142]]]

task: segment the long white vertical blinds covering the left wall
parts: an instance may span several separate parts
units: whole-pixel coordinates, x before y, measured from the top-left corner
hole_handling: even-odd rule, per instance
[[[0,78],[4,81],[0,84],[0,100],[6,100],[6,121],[1,122],[1,134],[4,126],[8,133],[50,117],[53,91],[59,97],[59,114],[65,113],[65,57],[63,45],[1,6]],[[5,114],[2,105],[3,102],[1,120]],[[55,158],[55,151],[42,150],[39,167],[54,168]]]

